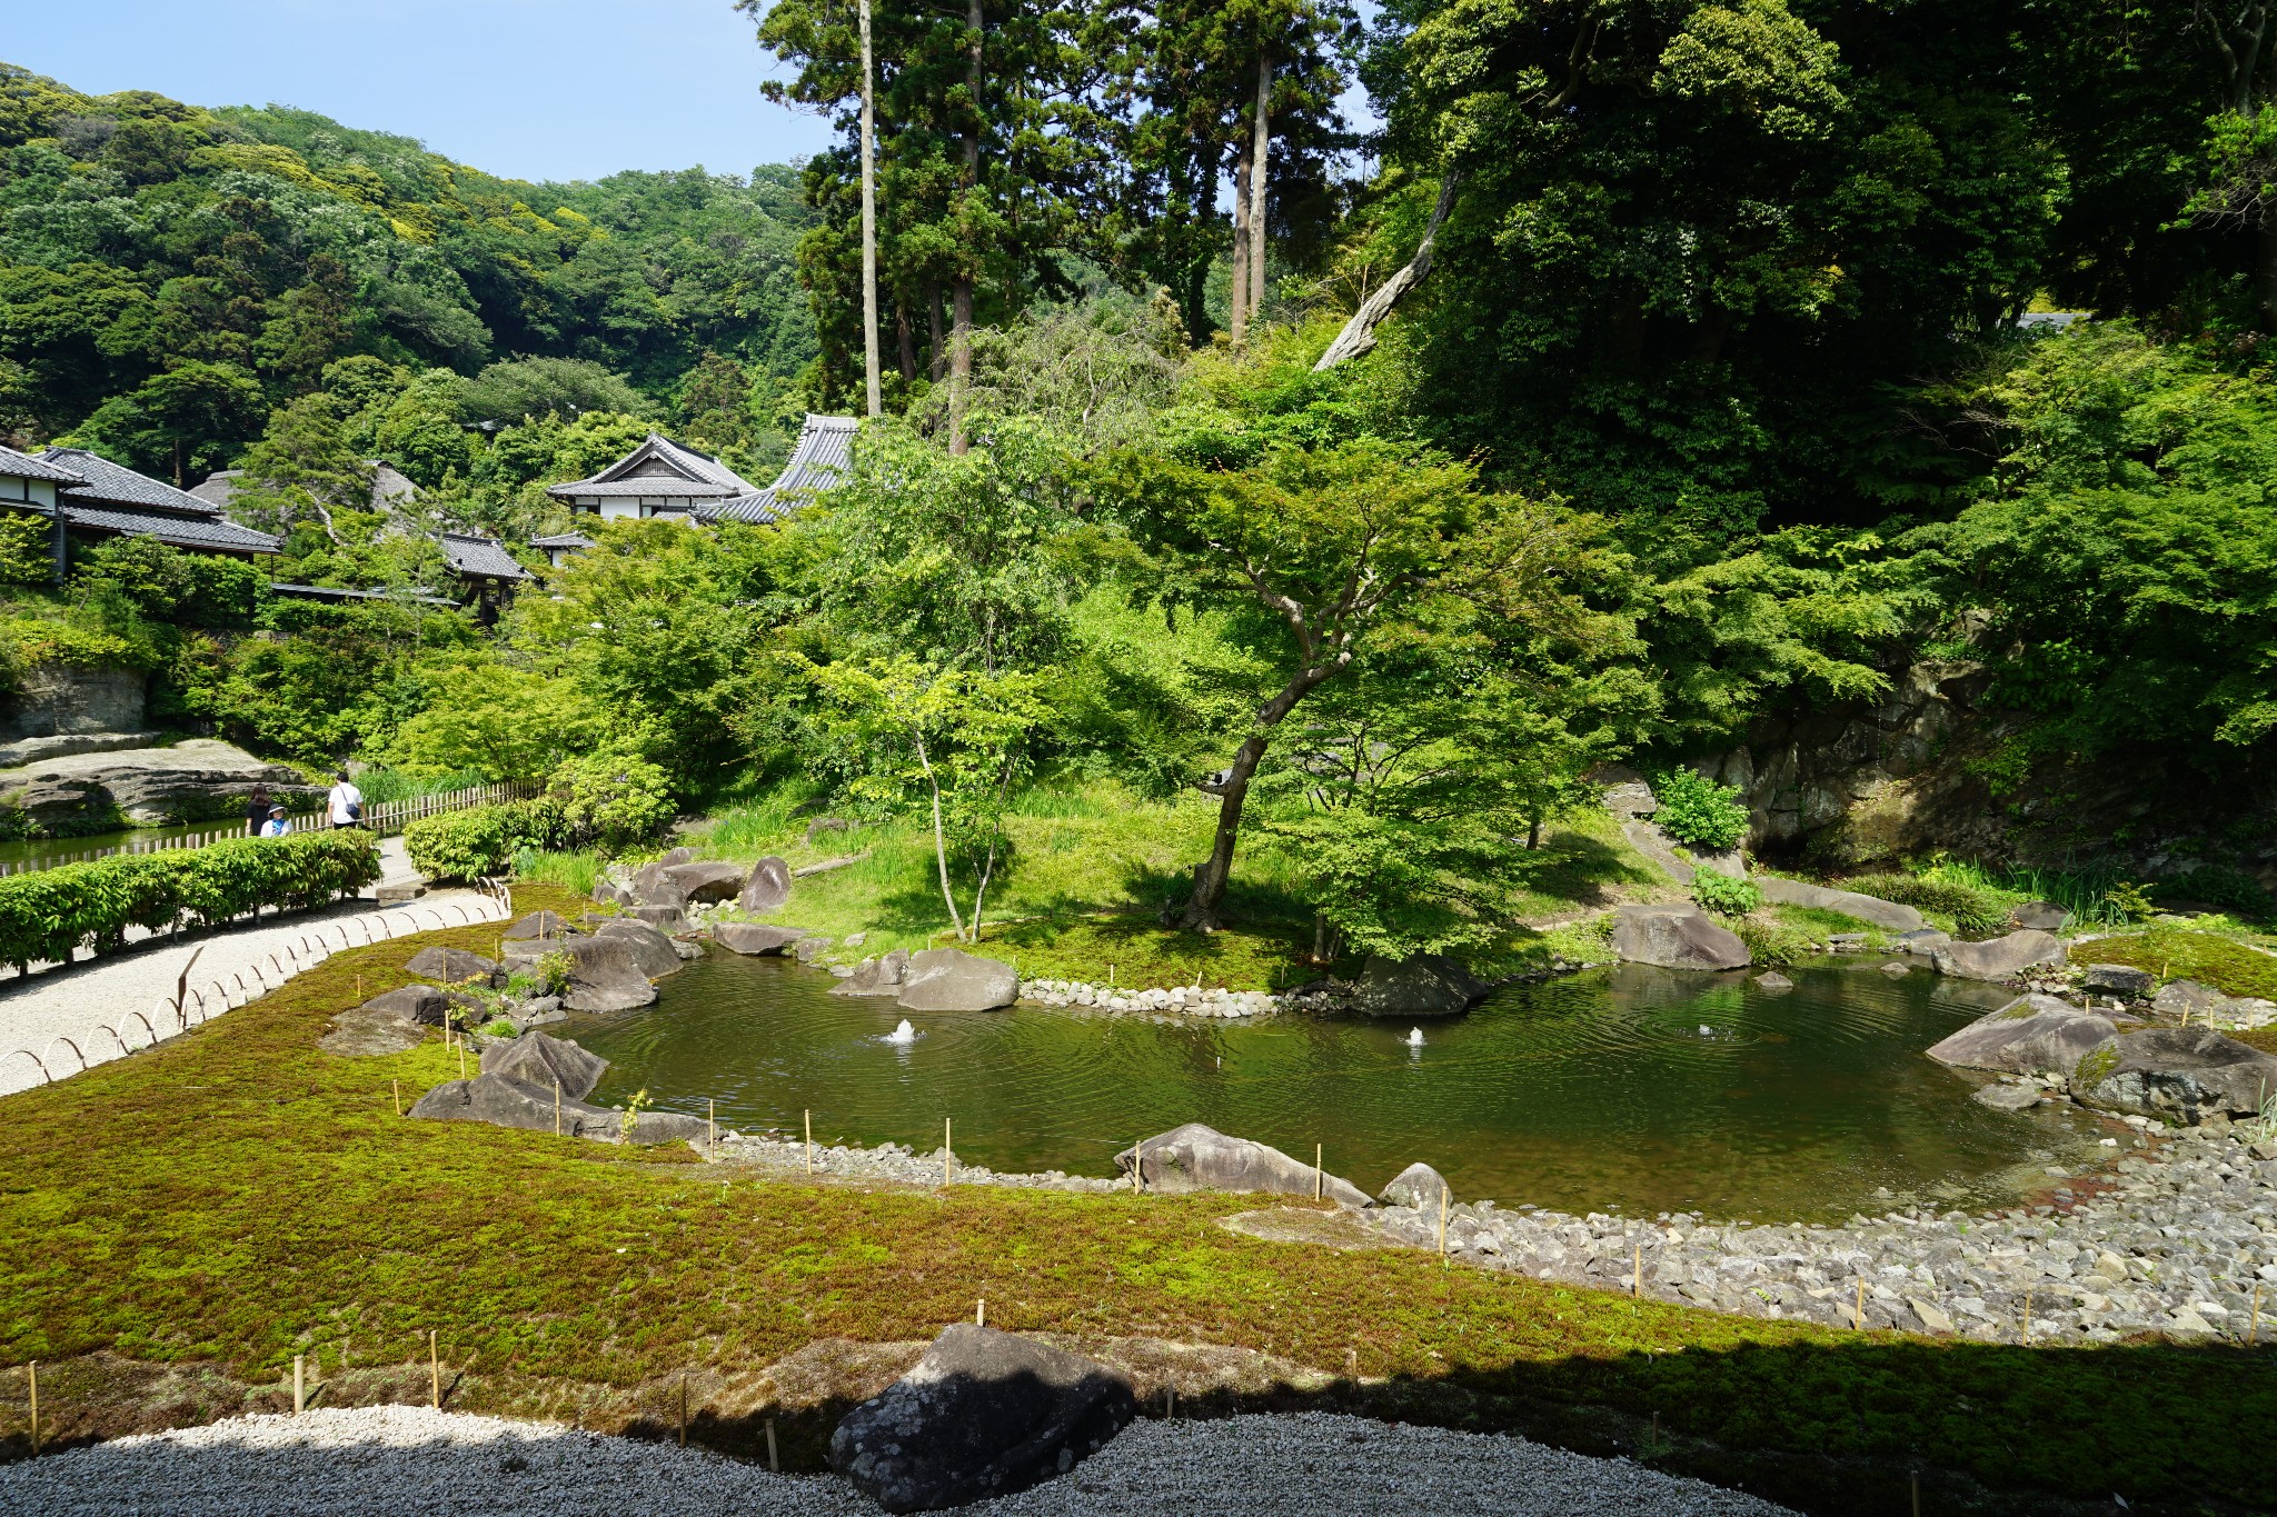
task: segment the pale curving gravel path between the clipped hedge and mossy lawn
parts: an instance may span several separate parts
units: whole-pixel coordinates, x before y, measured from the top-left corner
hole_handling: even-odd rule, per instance
[[[467,921],[501,921],[499,903],[483,892],[444,889],[387,910],[376,905],[357,910],[353,903],[342,903],[330,910],[264,919],[260,926],[159,939],[148,946],[130,944],[100,960],[55,964],[30,978],[0,980],[0,1096],[41,1085],[39,1064],[20,1058],[18,1048],[39,1055],[48,1073],[61,1080],[80,1073],[82,1062],[73,1058],[71,1046],[57,1039],[71,1039],[87,1064],[100,1064],[121,1058],[125,1053],[121,1044],[148,1048],[150,1033],[157,1039],[180,1033],[171,1012],[162,1014],[159,1003],[173,998],[173,987],[191,953],[198,955],[198,962],[189,971],[189,987],[203,989],[212,998],[212,983],[221,980],[223,985],[228,1005],[214,1001],[207,1008],[219,1017],[228,1008],[257,998],[264,980],[273,987],[289,978],[294,958],[285,953],[287,946],[303,953],[303,939],[310,944],[323,939],[337,953],[344,935],[348,944],[362,946],[367,928],[373,935],[392,930],[396,937],[426,932],[435,928],[437,914],[444,926],[455,928],[460,926],[460,907]],[[276,955],[276,964],[269,955]],[[253,973],[255,964],[262,969],[260,976]],[[237,989],[239,976],[246,992]],[[191,1023],[196,1026],[196,1014]],[[112,1028],[116,1037],[102,1028]]]

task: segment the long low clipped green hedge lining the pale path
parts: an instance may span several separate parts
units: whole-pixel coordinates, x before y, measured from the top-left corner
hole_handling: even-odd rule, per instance
[[[239,837],[180,853],[121,853],[0,880],[0,962],[116,948],[128,928],[216,926],[257,907],[321,905],[380,878],[369,832]]]

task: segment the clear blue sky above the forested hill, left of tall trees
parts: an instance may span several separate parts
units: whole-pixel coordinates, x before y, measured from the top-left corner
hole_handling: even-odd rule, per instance
[[[0,59],[87,93],[298,105],[519,180],[824,146],[729,0],[0,0]]]

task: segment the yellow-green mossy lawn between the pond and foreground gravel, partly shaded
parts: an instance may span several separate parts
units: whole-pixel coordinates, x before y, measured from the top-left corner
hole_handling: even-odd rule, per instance
[[[533,887],[519,905],[574,901]],[[339,1060],[314,1039],[355,976],[364,994],[403,983],[414,946],[342,953],[157,1053],[0,1105],[0,1362],[48,1362],[50,1426],[132,1424],[118,1408],[73,1424],[73,1374],[91,1383],[98,1351],[239,1385],[312,1353],[326,1376],[405,1367],[398,1394],[424,1394],[435,1331],[453,1406],[560,1412],[565,1387],[749,1378],[831,1335],[922,1340],[986,1296],[997,1326],[1261,1349],[1389,1378],[1348,1385],[1353,1406],[1569,1428],[1601,1451],[1635,1444],[1571,1408],[1658,1415],[1690,1446],[1664,1462],[1815,1510],[1901,1510],[1901,1460],[2138,1506],[2272,1490],[2268,1353],[1835,1333],[1261,1242],[1216,1226],[1241,1199],[754,1183],[656,1162],[685,1151],[405,1121],[389,1083],[410,1101],[455,1076],[439,1042]],[[0,1394],[20,1453],[23,1406]],[[1828,1460],[1867,1460],[1874,1490],[1844,1506],[1847,1465]]]

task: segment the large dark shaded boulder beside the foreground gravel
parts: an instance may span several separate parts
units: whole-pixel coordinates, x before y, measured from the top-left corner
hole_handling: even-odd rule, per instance
[[[1113,1369],[961,1321],[845,1415],[831,1469],[888,1512],[934,1512],[1063,1476],[1136,1412]]]

